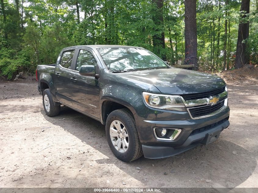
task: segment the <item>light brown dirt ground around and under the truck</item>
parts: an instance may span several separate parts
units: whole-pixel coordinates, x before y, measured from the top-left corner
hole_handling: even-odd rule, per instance
[[[35,80],[2,82],[0,187],[258,187],[258,81],[242,79],[228,81],[231,125],[217,141],[131,163],[115,158],[100,122],[67,107],[46,116]]]

